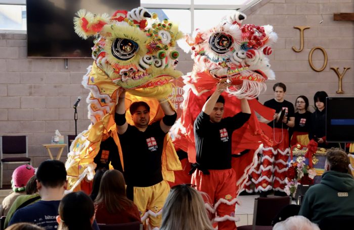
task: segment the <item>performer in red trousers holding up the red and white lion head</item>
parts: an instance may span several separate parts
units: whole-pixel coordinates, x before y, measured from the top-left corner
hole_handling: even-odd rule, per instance
[[[246,99],[241,99],[242,112],[223,119],[225,99],[220,94],[229,86],[218,83],[215,92],[205,102],[194,122],[197,164],[192,184],[204,196],[210,210],[216,210],[218,229],[236,229],[236,172],[231,167],[231,143],[234,130],[250,118],[251,109]],[[194,169],[195,169],[194,168]],[[193,169],[192,169],[193,170]]]

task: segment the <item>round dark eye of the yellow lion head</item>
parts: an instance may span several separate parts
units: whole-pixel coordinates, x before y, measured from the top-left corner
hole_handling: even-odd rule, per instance
[[[138,52],[139,45],[132,40],[116,38],[112,43],[112,54],[119,60],[127,61]]]

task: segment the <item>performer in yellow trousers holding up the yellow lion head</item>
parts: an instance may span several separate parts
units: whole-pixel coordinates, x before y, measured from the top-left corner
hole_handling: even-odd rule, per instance
[[[142,221],[149,216],[150,227],[159,227],[162,206],[170,190],[162,178],[163,143],[177,114],[167,100],[159,100],[165,116],[149,125],[150,106],[143,101],[134,102],[129,108],[134,122],[131,126],[125,120],[124,98],[125,91],[118,98],[115,122],[123,153],[127,196],[138,206]]]

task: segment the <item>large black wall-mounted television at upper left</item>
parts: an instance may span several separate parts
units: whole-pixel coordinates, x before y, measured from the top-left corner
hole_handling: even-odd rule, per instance
[[[27,56],[91,58],[94,38],[83,40],[74,31],[80,9],[113,15],[140,6],[140,0],[27,0]]]

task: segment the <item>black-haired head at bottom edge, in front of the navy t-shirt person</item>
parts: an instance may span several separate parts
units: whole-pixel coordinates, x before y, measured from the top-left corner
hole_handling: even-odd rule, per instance
[[[69,193],[59,204],[59,230],[92,230],[95,220],[94,203],[83,192]]]

